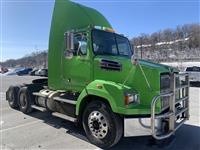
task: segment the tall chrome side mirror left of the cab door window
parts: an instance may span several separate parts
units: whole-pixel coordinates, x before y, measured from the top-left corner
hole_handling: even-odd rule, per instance
[[[67,59],[71,59],[73,57],[74,50],[74,33],[73,32],[65,32],[65,51],[64,56]]]

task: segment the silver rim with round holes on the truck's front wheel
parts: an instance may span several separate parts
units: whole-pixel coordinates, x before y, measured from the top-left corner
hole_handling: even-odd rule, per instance
[[[99,111],[93,111],[88,117],[88,127],[92,135],[103,139],[108,133],[108,121]]]

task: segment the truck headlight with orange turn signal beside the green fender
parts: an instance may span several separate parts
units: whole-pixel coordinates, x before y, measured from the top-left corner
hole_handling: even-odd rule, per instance
[[[136,93],[126,93],[124,96],[125,105],[129,105],[131,103],[140,103],[139,95]]]

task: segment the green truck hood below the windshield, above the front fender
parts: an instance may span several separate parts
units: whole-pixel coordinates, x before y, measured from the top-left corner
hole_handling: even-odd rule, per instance
[[[100,67],[102,60],[108,63],[105,68]],[[106,62],[105,61],[105,62]],[[110,64],[109,64],[110,63]],[[127,89],[134,90],[140,97],[141,107],[149,108],[151,100],[160,94],[160,77],[162,74],[178,72],[167,65],[157,64],[146,60],[138,60],[137,65],[131,59],[121,56],[98,55],[94,58],[94,79],[113,81]],[[120,64],[120,69],[112,70],[112,64]],[[109,65],[111,66],[109,68]]]

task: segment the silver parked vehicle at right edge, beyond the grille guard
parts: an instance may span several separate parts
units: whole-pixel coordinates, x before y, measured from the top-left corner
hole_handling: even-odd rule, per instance
[[[187,67],[185,72],[189,73],[190,82],[200,82],[200,67]]]

